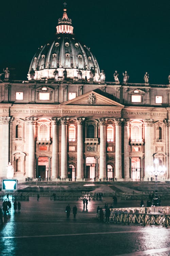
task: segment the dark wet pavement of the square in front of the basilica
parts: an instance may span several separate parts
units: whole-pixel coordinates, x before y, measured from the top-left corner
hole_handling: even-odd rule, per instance
[[[0,226],[0,255],[170,256],[170,228],[99,223],[97,206],[104,207],[106,201],[111,203],[111,198],[88,202],[87,211],[82,201],[47,197],[21,201],[20,212],[14,212],[12,203],[11,214]],[[66,218],[68,203],[71,209],[77,205],[76,220],[72,210]]]

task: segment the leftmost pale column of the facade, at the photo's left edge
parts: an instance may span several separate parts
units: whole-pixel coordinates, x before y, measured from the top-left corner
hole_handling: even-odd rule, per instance
[[[9,162],[9,144],[10,140],[10,128],[9,125],[12,122],[14,118],[11,117],[0,117],[0,141],[1,141],[1,153],[0,153],[0,176],[1,177],[6,177],[6,166],[8,165]],[[14,167],[14,166],[13,166]]]

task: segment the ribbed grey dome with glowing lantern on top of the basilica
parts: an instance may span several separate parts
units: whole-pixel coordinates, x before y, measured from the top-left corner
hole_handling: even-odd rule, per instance
[[[71,19],[68,18],[66,11],[64,9],[63,17],[58,19],[55,40],[41,46],[34,55],[28,80],[98,81],[100,77],[98,62],[90,52],[90,48],[75,38]]]

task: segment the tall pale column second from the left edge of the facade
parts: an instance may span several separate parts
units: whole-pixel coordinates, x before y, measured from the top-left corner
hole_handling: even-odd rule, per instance
[[[27,123],[29,125],[29,169],[28,176],[35,178],[35,125],[37,118],[27,117]]]

